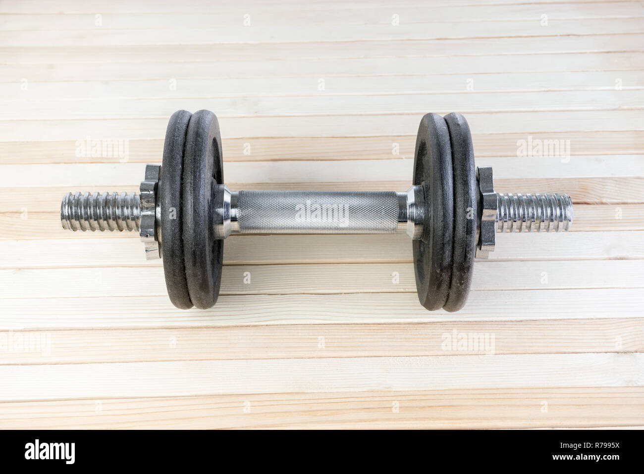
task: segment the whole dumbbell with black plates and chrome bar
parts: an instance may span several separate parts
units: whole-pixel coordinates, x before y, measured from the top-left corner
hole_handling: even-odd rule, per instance
[[[492,169],[475,167],[471,133],[456,113],[426,114],[416,139],[412,186],[393,191],[231,191],[222,140],[209,110],[175,112],[162,165],[147,164],[139,193],[67,193],[62,227],[138,230],[147,258],[164,262],[177,308],[211,308],[231,234],[407,233],[419,300],[457,311],[467,300],[475,257],[496,232],[570,230],[573,203],[560,193],[496,193]]]

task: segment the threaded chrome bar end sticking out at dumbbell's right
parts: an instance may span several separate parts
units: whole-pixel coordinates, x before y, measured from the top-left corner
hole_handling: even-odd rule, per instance
[[[497,193],[497,232],[562,232],[572,223],[567,194]]]

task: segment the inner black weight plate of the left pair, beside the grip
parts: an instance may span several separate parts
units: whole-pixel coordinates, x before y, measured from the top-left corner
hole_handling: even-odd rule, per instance
[[[222,139],[217,117],[198,110],[185,141],[183,204],[184,261],[190,299],[205,310],[217,301],[222,281],[223,240],[214,238],[214,193],[223,184]]]

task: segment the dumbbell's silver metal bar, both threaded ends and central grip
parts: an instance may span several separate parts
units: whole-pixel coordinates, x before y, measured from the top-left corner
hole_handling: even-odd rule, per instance
[[[223,186],[225,188],[225,186]],[[393,191],[238,191],[225,188],[220,238],[231,233],[408,233],[422,235],[420,186]],[[496,193],[496,232],[570,230],[573,202],[565,194]],[[226,208],[227,206],[227,208]],[[62,227],[69,230],[139,229],[138,193],[67,193]]]

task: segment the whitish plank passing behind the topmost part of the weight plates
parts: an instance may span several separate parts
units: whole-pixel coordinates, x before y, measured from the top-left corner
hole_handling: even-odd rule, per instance
[[[209,108],[208,101],[202,108]],[[426,110],[424,111],[426,112]],[[449,114],[450,110],[433,110]],[[220,114],[222,115],[222,114]],[[224,119],[225,117],[225,119]],[[230,117],[222,115],[222,127],[229,136],[341,137],[346,135],[404,135],[417,130],[422,114],[391,115],[325,115],[299,117]],[[574,130],[610,132],[642,130],[644,118],[638,110],[589,110],[571,112],[474,112],[467,116],[469,126],[477,133],[555,133]],[[0,121],[0,141],[94,139],[150,139],[164,137],[167,117],[97,120],[24,120]],[[249,133],[251,133],[249,135]]]

